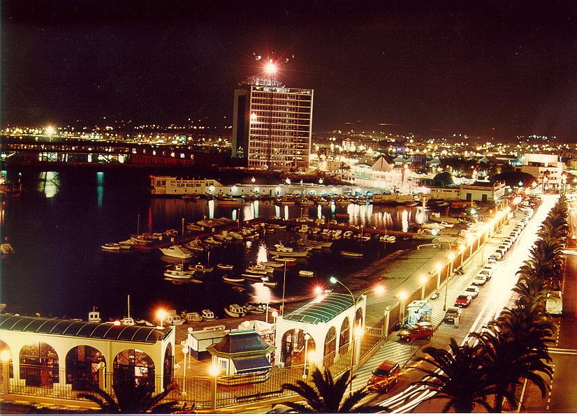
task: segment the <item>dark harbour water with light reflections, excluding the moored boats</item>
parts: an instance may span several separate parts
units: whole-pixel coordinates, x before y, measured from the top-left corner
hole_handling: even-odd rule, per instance
[[[19,172],[9,171],[7,176],[16,181]],[[153,320],[154,311],[160,307],[177,311],[210,308],[222,316],[222,308],[231,303],[269,299],[274,302],[282,297],[282,269],[275,272],[275,280],[279,281],[276,288],[246,282],[246,292],[239,293],[222,281],[217,269],[213,276],[205,277],[202,285],[174,284],[163,279],[165,260],[169,259],[158,251],[110,253],[100,246],[134,234],[138,214],[140,232],[161,232],[168,228],[180,230],[182,218],[190,222],[203,216],[298,217],[298,206],[279,208],[270,201],[259,201],[247,203],[237,212],[206,200],[152,198],[147,189],[148,174],[133,170],[24,170],[20,179],[24,188],[21,198],[2,202],[0,212],[1,233],[16,251],[3,258],[1,265],[1,302],[8,304],[7,311],[87,318],[87,313],[97,306],[105,319],[122,318],[126,295],[131,295],[132,315]],[[351,223],[393,230],[406,230],[419,215],[415,207],[333,205],[302,211],[314,218],[321,214],[328,219],[344,212],[351,214]],[[277,232],[261,241],[216,248],[210,253],[210,265],[233,264],[233,274],[240,274],[257,258],[270,259],[265,246],[272,246],[279,239],[288,242],[297,238],[292,232]],[[298,260],[296,267],[288,269],[286,297],[312,293],[315,285],[326,286],[328,276],[344,278],[403,244],[384,247],[377,242],[363,246],[349,240],[335,242],[330,250],[313,252],[311,258]],[[346,259],[338,255],[339,250],[363,251],[365,256],[363,260]],[[194,261],[206,264],[206,253]],[[299,278],[299,269],[313,270],[316,278]]]

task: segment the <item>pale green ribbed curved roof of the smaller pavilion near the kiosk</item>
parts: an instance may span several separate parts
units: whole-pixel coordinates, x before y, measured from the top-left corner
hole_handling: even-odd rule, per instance
[[[287,313],[284,315],[284,319],[316,325],[319,322],[330,321],[354,304],[351,295],[328,293],[300,306],[291,313]]]

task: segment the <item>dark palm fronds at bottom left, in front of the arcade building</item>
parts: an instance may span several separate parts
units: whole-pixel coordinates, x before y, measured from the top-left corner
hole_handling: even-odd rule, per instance
[[[116,400],[99,387],[96,387],[94,392],[80,393],[78,397],[94,401],[100,406],[102,413],[173,413],[177,410],[177,401],[160,403],[173,388],[153,394],[154,387],[148,383],[136,385],[125,380],[112,385]]]

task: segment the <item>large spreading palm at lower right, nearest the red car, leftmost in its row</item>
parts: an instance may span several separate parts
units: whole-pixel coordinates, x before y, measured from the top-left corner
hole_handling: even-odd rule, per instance
[[[487,397],[497,394],[497,389],[485,371],[484,356],[478,347],[469,344],[460,347],[451,339],[449,350],[427,347],[423,352],[429,357],[419,357],[416,363],[429,364],[433,369],[411,368],[428,376],[413,383],[435,393],[425,401],[448,399],[443,413],[451,409],[456,413],[472,413],[477,405],[489,412],[493,410]]]

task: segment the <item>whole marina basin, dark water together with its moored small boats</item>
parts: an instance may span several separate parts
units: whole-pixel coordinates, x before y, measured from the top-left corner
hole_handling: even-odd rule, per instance
[[[154,198],[143,186],[144,175],[129,181],[115,175],[24,172],[24,189],[31,191],[5,207],[10,225],[4,231],[16,253],[2,265],[3,302],[12,311],[83,318],[96,306],[104,319],[111,319],[122,315],[122,299],[130,294],[133,315],[148,321],[154,321],[159,308],[179,313],[211,309],[223,315],[234,303],[279,304],[285,269],[285,297],[306,298],[314,285],[326,285],[333,274],[346,276],[413,246],[415,233],[409,230],[428,216],[422,207],[281,207],[272,200],[219,207],[204,198]],[[52,179],[46,182],[46,177]],[[37,212],[38,206],[44,214]],[[57,214],[62,209],[68,218]],[[23,235],[18,223],[43,232]],[[63,232],[66,239],[59,237]],[[113,248],[103,247],[108,245]],[[31,251],[45,276],[32,272],[24,260]],[[53,253],[60,253],[59,273],[51,272]],[[31,276],[35,284],[27,290],[29,296],[18,295]],[[301,281],[307,283],[291,284]],[[41,296],[48,287],[61,291],[64,299]]]

